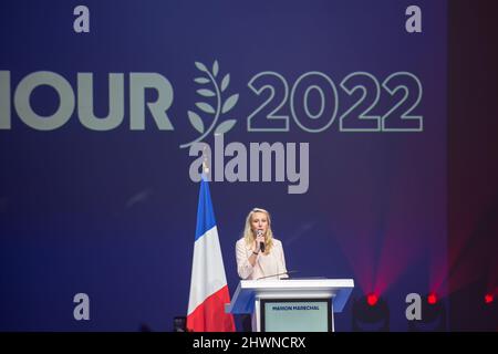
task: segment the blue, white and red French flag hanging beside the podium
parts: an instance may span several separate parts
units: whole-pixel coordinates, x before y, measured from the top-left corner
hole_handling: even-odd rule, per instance
[[[191,263],[187,331],[235,332],[234,316],[225,313],[230,302],[209,185],[203,176],[197,207],[196,241]]]

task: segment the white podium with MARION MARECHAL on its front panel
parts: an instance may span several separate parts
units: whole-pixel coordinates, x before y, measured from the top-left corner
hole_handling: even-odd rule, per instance
[[[253,332],[333,332],[352,279],[241,280],[225,312],[252,314]]]

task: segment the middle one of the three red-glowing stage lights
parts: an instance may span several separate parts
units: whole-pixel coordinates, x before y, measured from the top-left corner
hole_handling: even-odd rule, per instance
[[[446,308],[435,292],[422,301],[422,319],[408,322],[412,332],[444,332],[447,330]]]

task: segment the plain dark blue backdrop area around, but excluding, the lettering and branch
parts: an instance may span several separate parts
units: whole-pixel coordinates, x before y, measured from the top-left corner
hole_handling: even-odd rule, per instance
[[[300,277],[353,278],[354,296],[380,291],[392,327],[406,330],[405,295],[440,285],[446,251],[446,2],[418,1],[424,32],[408,34],[411,1],[86,1],[91,32],[73,31],[75,1],[0,4],[0,70],[12,91],[35,71],[53,71],[76,88],[77,72],[94,73],[97,115],[108,108],[107,75],[125,73],[125,118],[92,132],[77,114],[39,132],[12,108],[0,131],[0,330],[169,331],[188,303],[198,185],[193,158],[178,146],[196,137],[195,61],[218,60],[240,98],[239,122],[226,137],[239,142],[309,142],[310,189],[287,184],[211,183],[211,197],[232,293],[234,247],[247,212],[272,212],[288,269]],[[383,81],[398,71],[424,86],[414,114],[423,133],[248,133],[246,118],[262,102],[248,87],[262,71],[291,86],[321,71],[339,87],[366,71]],[[174,87],[174,132],[128,128],[129,72],[157,72]],[[339,90],[340,91],[340,90]],[[340,91],[338,117],[357,96]],[[154,100],[154,95],[148,95]],[[400,95],[395,96],[400,97]],[[55,94],[39,88],[32,105],[54,112]],[[378,113],[393,105],[382,92]],[[288,105],[282,114],[290,114]],[[208,143],[212,143],[210,137]],[[91,321],[73,319],[73,295],[91,299]],[[336,316],[350,326],[350,305]]]

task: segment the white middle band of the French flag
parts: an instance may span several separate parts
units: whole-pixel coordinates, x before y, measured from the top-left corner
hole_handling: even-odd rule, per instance
[[[194,244],[188,314],[225,285],[227,285],[227,277],[225,275],[218,229],[215,226],[199,237]]]

